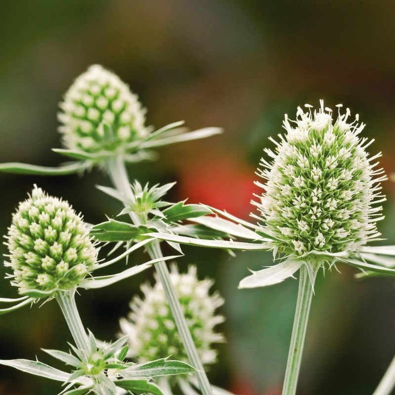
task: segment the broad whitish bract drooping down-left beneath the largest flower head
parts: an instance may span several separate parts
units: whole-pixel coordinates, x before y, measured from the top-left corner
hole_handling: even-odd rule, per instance
[[[252,272],[251,276],[244,277],[238,284],[238,288],[257,288],[278,284],[293,274],[304,264],[303,261],[288,259],[277,263],[269,268]]]

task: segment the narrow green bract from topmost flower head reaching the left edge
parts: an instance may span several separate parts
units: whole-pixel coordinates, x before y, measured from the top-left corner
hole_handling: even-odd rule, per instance
[[[66,175],[74,174],[86,170],[90,163],[72,162],[59,167],[36,166],[34,164],[8,162],[0,163],[0,171],[13,174],[34,174],[34,175]]]

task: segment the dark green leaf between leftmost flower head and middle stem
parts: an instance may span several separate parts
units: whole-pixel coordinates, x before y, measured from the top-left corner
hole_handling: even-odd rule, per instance
[[[93,226],[90,235],[98,241],[129,241],[139,236],[141,232],[144,232],[144,228],[110,219]]]

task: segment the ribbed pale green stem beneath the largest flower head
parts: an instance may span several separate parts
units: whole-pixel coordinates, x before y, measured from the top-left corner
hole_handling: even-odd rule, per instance
[[[316,273],[317,269],[314,270],[314,279]],[[282,395],[295,395],[296,393],[307,321],[309,320],[310,306],[314,293],[313,285],[310,282],[307,268],[303,265],[299,274],[298,300],[296,302],[295,318],[293,321],[291,344],[289,346]]]

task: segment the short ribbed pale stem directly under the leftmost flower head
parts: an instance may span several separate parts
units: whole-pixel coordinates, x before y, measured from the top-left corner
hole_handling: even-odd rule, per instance
[[[60,291],[56,295],[56,300],[59,303],[63,316],[66,319],[70,332],[78,349],[84,354],[90,354],[90,343],[85,329],[82,325],[81,318],[77,310],[76,301],[74,299],[76,290]]]

